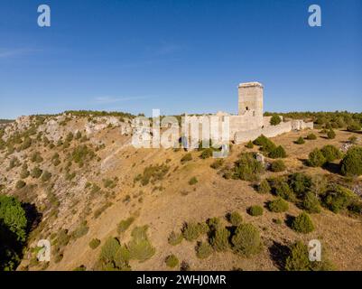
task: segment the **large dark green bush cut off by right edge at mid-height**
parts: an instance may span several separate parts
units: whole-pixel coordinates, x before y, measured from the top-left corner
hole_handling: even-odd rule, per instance
[[[362,147],[353,146],[340,162],[340,172],[344,175],[362,174]]]

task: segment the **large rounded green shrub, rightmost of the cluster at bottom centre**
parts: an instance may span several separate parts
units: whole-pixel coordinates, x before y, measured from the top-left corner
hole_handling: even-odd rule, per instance
[[[243,256],[255,255],[263,246],[259,231],[252,224],[242,224],[237,227],[231,243],[233,249]]]

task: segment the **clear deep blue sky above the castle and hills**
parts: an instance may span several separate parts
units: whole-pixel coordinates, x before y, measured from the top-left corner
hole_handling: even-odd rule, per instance
[[[322,27],[308,25],[311,4]],[[237,84],[254,80],[268,111],[361,111],[362,1],[0,2],[0,118],[236,113]]]

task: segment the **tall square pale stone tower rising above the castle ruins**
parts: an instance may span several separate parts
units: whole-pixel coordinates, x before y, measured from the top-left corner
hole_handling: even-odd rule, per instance
[[[259,127],[263,126],[263,92],[259,82],[240,83],[238,87],[238,115],[251,117]]]

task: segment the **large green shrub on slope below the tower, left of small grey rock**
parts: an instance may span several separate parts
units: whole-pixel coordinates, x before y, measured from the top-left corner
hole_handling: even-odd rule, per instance
[[[234,178],[244,181],[256,181],[264,172],[263,164],[255,159],[255,154],[244,153],[235,163]]]

